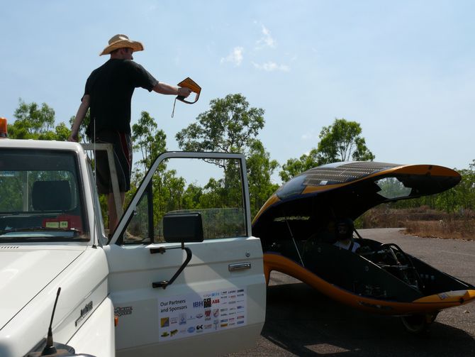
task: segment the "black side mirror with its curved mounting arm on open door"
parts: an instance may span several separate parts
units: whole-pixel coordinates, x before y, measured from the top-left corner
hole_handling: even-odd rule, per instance
[[[163,236],[167,243],[181,243],[181,247],[172,248],[151,248],[150,254],[164,254],[169,249],[181,248],[186,252],[186,258],[180,268],[170,280],[152,282],[152,287],[162,287],[166,289],[168,285],[177,279],[186,265],[193,257],[191,249],[185,247],[184,243],[203,241],[203,222],[199,213],[169,213],[163,216]]]

